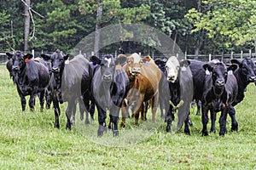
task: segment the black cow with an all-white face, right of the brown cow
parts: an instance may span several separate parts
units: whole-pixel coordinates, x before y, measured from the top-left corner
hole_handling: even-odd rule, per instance
[[[184,133],[190,134],[189,108],[193,97],[193,80],[188,67],[189,63],[186,60],[179,62],[175,56],[168,60],[157,59],[155,63],[164,66],[164,75],[166,75],[168,81],[167,89],[166,82],[164,82],[164,85],[160,85],[160,88],[163,88],[160,89],[160,101],[164,102],[163,107],[165,109],[169,109],[166,112],[166,131],[171,131],[174,113],[177,110],[177,127],[181,127],[184,122]]]

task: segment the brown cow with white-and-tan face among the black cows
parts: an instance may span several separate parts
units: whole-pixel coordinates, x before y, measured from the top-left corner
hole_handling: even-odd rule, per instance
[[[161,72],[150,56],[141,58],[139,54],[131,54],[127,57],[127,63],[123,66],[130,81],[130,90],[126,97],[126,103],[135,104],[133,115],[135,124],[138,124],[139,112],[144,111],[144,101],[152,100],[152,122],[155,122],[155,112],[159,99],[159,82]],[[125,117],[128,116],[125,108],[122,108],[121,126],[125,127]],[[143,113],[143,120],[145,114]]]

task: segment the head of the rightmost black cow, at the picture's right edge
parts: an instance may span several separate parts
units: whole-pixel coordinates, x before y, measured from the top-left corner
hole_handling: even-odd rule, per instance
[[[232,64],[239,65],[241,71],[241,78],[245,78],[246,82],[254,82],[256,80],[254,73],[254,62],[252,59],[243,59],[241,62],[237,59],[231,59]]]

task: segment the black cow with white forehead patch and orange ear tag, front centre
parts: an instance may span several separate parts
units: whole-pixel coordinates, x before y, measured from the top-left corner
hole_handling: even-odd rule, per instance
[[[113,58],[112,55],[107,54],[102,59],[92,56],[90,60],[100,65],[92,79],[92,91],[99,122],[97,135],[102,136],[103,132],[107,129],[106,111],[109,110],[109,124],[113,125],[113,136],[117,136],[119,134],[119,111],[129,88],[129,79],[120,66],[125,62],[126,58]]]

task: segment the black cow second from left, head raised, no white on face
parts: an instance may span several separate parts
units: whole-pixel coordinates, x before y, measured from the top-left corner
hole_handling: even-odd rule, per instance
[[[65,60],[72,57],[71,54],[63,54],[56,50],[53,54],[41,54],[44,59],[50,59],[52,74],[49,82],[49,91],[55,109],[55,127],[59,128],[59,116],[61,114],[59,103],[67,101],[67,125],[71,129],[72,119],[76,112],[76,101],[81,94],[81,79],[84,69],[89,67],[89,61],[83,55],[75,56],[65,64]],[[81,102],[80,102],[81,103]]]

